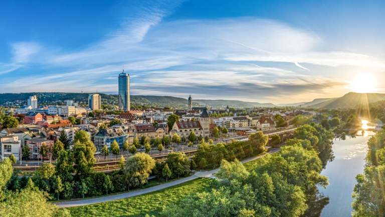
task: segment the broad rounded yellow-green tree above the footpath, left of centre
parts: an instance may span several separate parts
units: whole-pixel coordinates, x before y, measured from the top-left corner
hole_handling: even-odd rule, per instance
[[[154,159],[145,153],[136,153],[126,160],[126,172],[133,186],[145,184],[154,167]]]

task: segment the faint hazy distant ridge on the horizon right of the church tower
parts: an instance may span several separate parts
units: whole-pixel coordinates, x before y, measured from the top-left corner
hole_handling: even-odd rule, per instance
[[[211,106],[227,106],[229,107],[274,107],[273,103],[245,102],[240,100],[225,100],[225,99],[193,99],[195,103],[205,103]]]

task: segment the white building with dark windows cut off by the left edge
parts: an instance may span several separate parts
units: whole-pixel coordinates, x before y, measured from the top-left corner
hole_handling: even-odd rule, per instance
[[[18,136],[0,136],[0,160],[9,158],[13,154],[16,160],[20,159],[22,148]]]

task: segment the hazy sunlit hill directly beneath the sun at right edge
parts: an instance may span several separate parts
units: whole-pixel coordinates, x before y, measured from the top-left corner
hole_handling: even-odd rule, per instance
[[[354,108],[358,105],[385,100],[383,93],[354,93],[349,92],[339,98],[330,99],[311,105],[313,108]]]

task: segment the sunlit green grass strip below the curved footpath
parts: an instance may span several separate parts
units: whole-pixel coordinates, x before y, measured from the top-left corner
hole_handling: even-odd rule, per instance
[[[72,216],[160,216],[163,205],[178,202],[191,191],[203,192],[209,189],[209,178],[197,178],[173,187],[151,193],[68,208]]]

